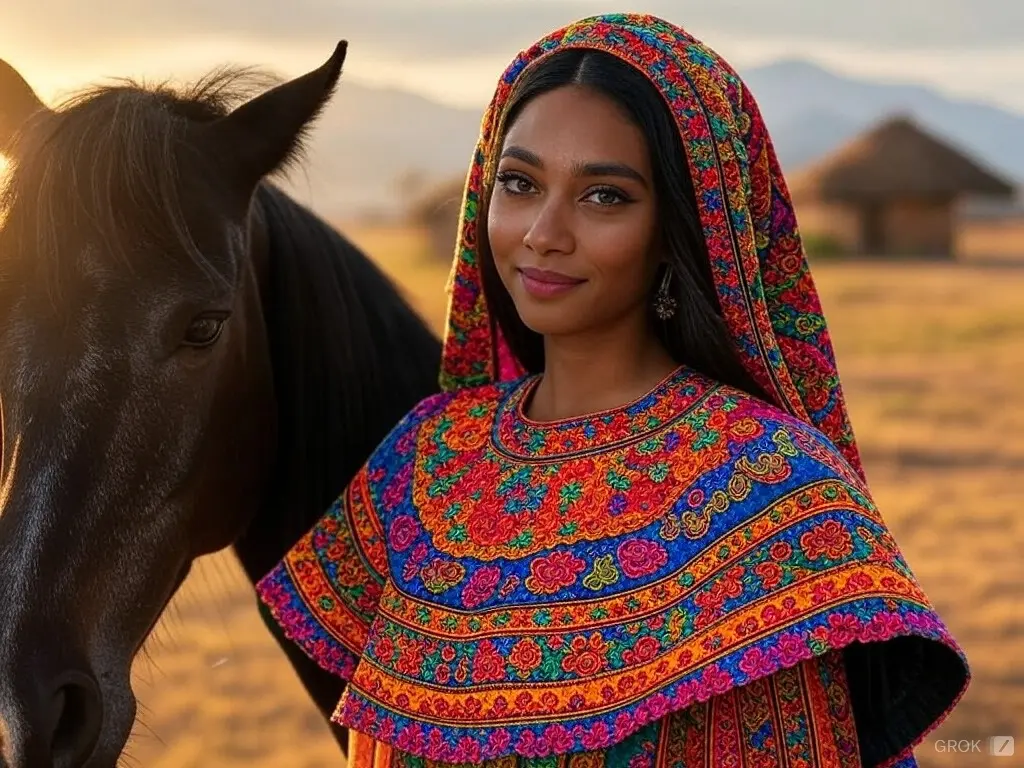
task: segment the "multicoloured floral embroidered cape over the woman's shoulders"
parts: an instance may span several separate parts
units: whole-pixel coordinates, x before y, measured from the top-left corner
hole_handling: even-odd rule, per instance
[[[377,523],[353,526],[348,540],[325,539],[317,528],[261,584],[261,598],[283,625],[299,628],[291,632],[307,652],[350,680],[337,722],[453,763],[575,753],[586,743],[608,751],[709,695],[854,642],[897,636],[916,638],[931,648],[922,652],[945,658],[943,675],[958,675],[958,689],[966,684],[959,649],[863,487],[799,447],[827,450],[812,427],[681,370],[671,379],[676,385],[648,398],[667,414],[664,424],[648,421],[642,408],[615,414],[623,432],[606,435],[616,446],[606,454],[588,444],[580,456],[494,460],[503,473],[496,477],[481,470],[490,461],[484,455],[499,454],[500,425],[515,426],[501,415],[530,381],[428,400],[360,473],[377,480],[343,497],[346,519],[376,514]],[[671,414],[667,400],[681,410]],[[469,412],[481,414],[484,426],[483,414],[498,415],[482,430],[486,441],[471,440],[461,453],[443,447],[450,425]],[[585,421],[572,429],[585,430]],[[653,424],[652,431],[638,424]],[[570,429],[556,429],[553,442],[537,444],[561,452]],[[674,430],[689,431],[676,439]],[[617,464],[622,452],[634,452],[631,463]],[[565,516],[558,501],[579,478],[552,471],[575,461],[603,482],[631,480],[627,511],[605,514],[603,527],[594,518],[585,548],[572,546],[581,536],[566,521],[587,519],[587,510]],[[414,471],[403,471],[410,463]],[[659,499],[662,485],[645,471],[658,463],[687,478],[676,481],[674,502]],[[424,482],[449,477],[457,479],[444,494],[423,493]],[[508,513],[504,486],[539,488],[541,501]],[[379,503],[385,496],[397,500],[393,507]],[[366,506],[354,509],[356,500]],[[494,524],[504,532],[492,551],[461,535],[473,509],[514,521],[507,529]],[[694,510],[707,514],[700,538],[667,526]],[[637,516],[623,525],[629,511]],[[322,527],[343,530],[330,519]],[[401,546],[386,548],[373,538],[379,530],[399,531]],[[539,538],[543,548],[534,546]],[[371,540],[376,554],[338,568],[339,554],[362,551]],[[339,549],[338,541],[351,543]],[[353,620],[361,596],[332,580],[382,559],[376,611]],[[328,604],[322,595],[335,598]],[[946,690],[943,675],[914,684]]]

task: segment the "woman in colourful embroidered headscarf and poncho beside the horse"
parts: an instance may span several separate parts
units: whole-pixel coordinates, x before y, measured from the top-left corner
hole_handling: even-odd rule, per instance
[[[753,97],[607,15],[484,116],[441,382],[259,585],[354,766],[913,765],[966,659],[865,485]]]

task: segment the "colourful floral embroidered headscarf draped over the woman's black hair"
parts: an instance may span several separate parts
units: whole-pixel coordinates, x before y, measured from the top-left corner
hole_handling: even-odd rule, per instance
[[[779,408],[812,424],[863,477],[831,339],[774,147],[754,96],[713,50],[647,14],[584,18],[522,51],[484,113],[463,195],[440,384],[515,378],[522,368],[487,311],[477,249],[503,115],[530,66],[569,48],[601,50],[642,72],[665,97],[694,180],[715,289],[746,371]]]

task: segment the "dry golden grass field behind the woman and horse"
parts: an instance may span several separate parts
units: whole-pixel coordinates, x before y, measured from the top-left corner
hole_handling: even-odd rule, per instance
[[[415,231],[349,229],[439,329],[446,265]],[[1024,738],[1024,264],[816,266],[874,496],[973,663],[925,768],[1024,764],[940,738]],[[200,562],[138,664],[140,768],[342,765],[233,561]],[[1022,744],[1024,750],[1024,744]],[[1015,762],[1020,761],[1020,762]]]

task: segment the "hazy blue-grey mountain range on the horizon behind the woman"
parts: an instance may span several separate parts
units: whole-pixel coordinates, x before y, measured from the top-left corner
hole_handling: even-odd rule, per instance
[[[912,83],[858,80],[797,59],[740,74],[786,172],[902,114],[1012,183],[1024,183],[1024,115]],[[482,111],[343,81],[310,135],[305,163],[284,184],[332,218],[393,215],[408,203],[414,177],[434,181],[466,172]]]

